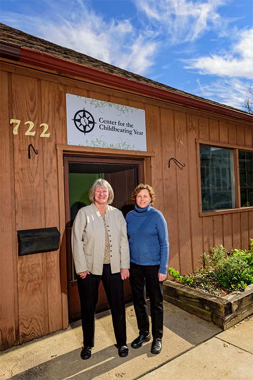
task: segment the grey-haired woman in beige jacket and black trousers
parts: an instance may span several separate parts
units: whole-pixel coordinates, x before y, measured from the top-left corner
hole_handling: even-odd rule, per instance
[[[123,280],[129,277],[129,244],[123,214],[109,206],[113,197],[111,185],[104,179],[97,179],[89,192],[92,204],[78,211],[72,228],[72,254],[83,331],[82,359],[89,359],[94,347],[100,280],[111,309],[118,355],[128,355]]]

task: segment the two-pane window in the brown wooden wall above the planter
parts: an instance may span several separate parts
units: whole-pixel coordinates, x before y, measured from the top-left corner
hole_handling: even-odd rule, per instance
[[[202,211],[253,206],[253,153],[200,144]],[[235,185],[234,157],[238,157],[239,186]],[[236,189],[240,194],[236,194]],[[236,198],[238,204],[236,204]]]

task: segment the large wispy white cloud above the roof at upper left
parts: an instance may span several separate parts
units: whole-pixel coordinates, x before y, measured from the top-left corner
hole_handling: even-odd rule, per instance
[[[152,32],[136,29],[130,19],[106,21],[88,9],[86,2],[71,2],[75,7],[68,4],[66,8],[63,3],[60,12],[49,2],[52,16],[48,18],[6,13],[3,22],[12,25],[15,19],[17,29],[140,75],[154,64],[158,43],[150,41]]]

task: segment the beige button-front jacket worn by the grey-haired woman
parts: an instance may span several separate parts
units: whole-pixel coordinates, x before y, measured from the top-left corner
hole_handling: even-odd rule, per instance
[[[130,267],[129,244],[126,223],[120,210],[107,206],[106,227],[110,245],[111,272]],[[72,254],[76,273],[89,271],[102,275],[105,251],[105,227],[103,218],[94,204],[82,207],[72,227]]]

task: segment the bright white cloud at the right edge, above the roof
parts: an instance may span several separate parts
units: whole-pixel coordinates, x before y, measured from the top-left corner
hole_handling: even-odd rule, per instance
[[[185,68],[197,69],[201,74],[253,80],[253,29],[240,32],[237,38],[239,41],[229,53],[188,60]]]

